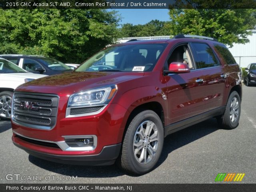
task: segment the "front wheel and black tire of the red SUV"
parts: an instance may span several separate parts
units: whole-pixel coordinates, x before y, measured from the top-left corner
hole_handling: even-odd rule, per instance
[[[152,122],[154,124],[152,124]],[[141,127],[142,125],[142,127]],[[145,129],[145,137],[142,136],[144,134],[136,134],[139,129],[143,129],[146,125],[150,125],[152,127],[149,137],[146,136],[146,133],[149,131],[146,131]],[[156,131],[156,132],[155,132]],[[150,138],[156,138],[155,135],[158,135],[158,141],[151,141]],[[144,137],[144,139],[142,138]],[[141,150],[138,150],[134,146],[134,144],[141,144],[142,146]],[[160,154],[162,152],[164,144],[164,129],[162,125],[162,121],[160,120],[159,116],[152,110],[144,110],[137,114],[130,122],[127,131],[124,136],[124,141],[122,144],[122,151],[119,158],[120,166],[126,170],[127,172],[130,172],[132,174],[142,175],[147,172],[150,172],[158,162],[158,159],[160,157]],[[150,145],[150,146],[149,146]],[[157,147],[156,147],[157,146]],[[152,152],[152,148],[154,147],[154,154]],[[156,148],[155,148],[156,147]],[[138,151],[137,154],[135,154],[136,149]],[[144,152],[146,151],[146,160],[143,158],[141,162],[139,162],[138,156],[143,156]],[[147,154],[148,153],[148,154]],[[147,156],[148,155],[148,156]],[[144,155],[145,156],[145,155]],[[151,158],[152,157],[152,158]]]

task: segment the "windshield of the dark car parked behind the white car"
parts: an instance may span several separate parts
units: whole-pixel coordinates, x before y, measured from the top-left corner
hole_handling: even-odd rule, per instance
[[[51,70],[54,71],[62,71],[62,70],[72,70],[69,66],[66,66],[64,63],[52,59],[52,58],[40,58],[38,59],[40,62],[42,62],[45,66],[48,66]]]

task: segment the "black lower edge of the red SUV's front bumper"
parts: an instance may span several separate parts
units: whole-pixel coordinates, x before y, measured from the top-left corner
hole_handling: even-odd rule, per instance
[[[101,152],[96,155],[55,155],[26,148],[24,147],[24,143],[26,143],[26,141],[22,141],[22,139],[15,136],[12,136],[12,141],[15,146],[25,150],[32,156],[52,162],[75,165],[112,165],[118,158],[121,149],[121,143],[119,143],[110,146],[104,146]],[[23,144],[21,144],[21,142],[23,142]]]

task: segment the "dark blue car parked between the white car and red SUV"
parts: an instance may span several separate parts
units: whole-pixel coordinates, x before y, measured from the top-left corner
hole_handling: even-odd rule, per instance
[[[44,56],[36,55],[0,55],[20,68],[37,74],[54,75],[63,72],[72,71],[69,66],[64,63]]]

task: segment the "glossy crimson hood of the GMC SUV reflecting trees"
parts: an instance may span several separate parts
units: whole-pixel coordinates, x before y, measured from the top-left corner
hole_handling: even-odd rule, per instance
[[[109,84],[143,77],[143,72],[70,72],[48,76],[19,86],[16,91],[70,95]]]

